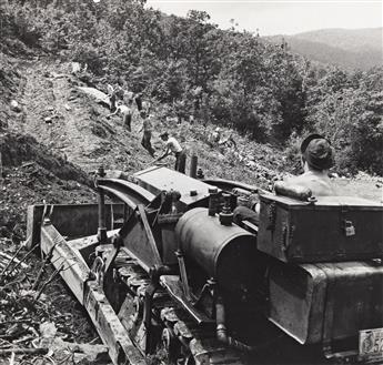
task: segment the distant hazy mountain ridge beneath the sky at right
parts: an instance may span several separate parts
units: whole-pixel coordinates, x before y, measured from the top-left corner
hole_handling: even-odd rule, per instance
[[[273,43],[282,43],[284,39],[291,51],[314,61],[367,70],[382,65],[382,32],[383,28],[322,29],[265,39]]]

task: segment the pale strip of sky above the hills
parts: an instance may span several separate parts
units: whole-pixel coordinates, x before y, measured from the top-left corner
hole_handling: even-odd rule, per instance
[[[168,14],[185,17],[190,9],[204,10],[222,29],[234,19],[238,30],[260,36],[295,34],[327,28],[382,27],[382,0],[148,0]]]

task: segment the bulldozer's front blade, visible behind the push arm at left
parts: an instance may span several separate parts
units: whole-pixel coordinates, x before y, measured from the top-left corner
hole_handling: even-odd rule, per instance
[[[98,231],[98,204],[54,204],[50,216],[51,223],[68,237],[95,234]],[[29,205],[27,220],[28,247],[40,242],[40,226],[44,205]],[[112,229],[113,216],[123,216],[123,204],[105,204],[107,230]]]

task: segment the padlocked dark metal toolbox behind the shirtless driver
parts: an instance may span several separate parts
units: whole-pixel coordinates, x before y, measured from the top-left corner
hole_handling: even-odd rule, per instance
[[[383,205],[352,196],[301,202],[261,195],[258,249],[284,262],[383,256]]]

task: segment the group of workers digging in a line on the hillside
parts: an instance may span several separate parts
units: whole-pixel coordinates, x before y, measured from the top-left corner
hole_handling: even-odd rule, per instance
[[[121,88],[120,88],[121,89]],[[139,132],[143,131],[141,145],[149,152],[149,154],[154,158],[155,151],[151,143],[152,131],[153,131],[153,115],[150,113],[149,102],[142,101],[142,94],[133,94],[132,92],[123,92],[119,89],[113,89],[108,85],[108,93],[110,100],[110,110],[112,111],[108,118],[115,115],[118,113],[122,116],[122,122],[129,132],[132,131],[132,115],[133,115],[133,100],[137,104],[137,110],[142,121],[141,129]],[[122,91],[122,92],[121,92]],[[118,97],[120,100],[117,100]],[[175,156],[174,170],[184,173],[187,155],[181,144],[174,136],[170,136],[167,131],[160,134],[161,140],[164,142],[165,150],[164,153],[157,158],[152,163],[161,161],[165,156],[173,154]]]

